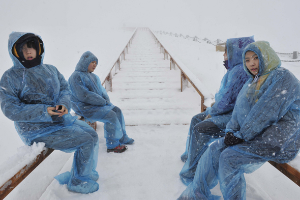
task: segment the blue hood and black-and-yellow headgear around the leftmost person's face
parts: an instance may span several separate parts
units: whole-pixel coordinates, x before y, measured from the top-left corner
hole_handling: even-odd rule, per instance
[[[37,50],[37,58],[32,61],[26,61],[22,52],[23,45],[28,41],[33,41]],[[37,60],[39,64],[43,63],[44,44],[41,37],[33,33],[12,32],[8,39],[8,51],[16,68],[21,68],[22,65],[27,67],[31,64],[35,64],[36,66]]]

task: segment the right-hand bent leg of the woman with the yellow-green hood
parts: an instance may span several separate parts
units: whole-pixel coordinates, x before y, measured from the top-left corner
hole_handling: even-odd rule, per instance
[[[225,200],[246,199],[244,173],[253,173],[266,162],[262,158],[242,154],[231,148],[222,152],[219,161],[220,188]]]

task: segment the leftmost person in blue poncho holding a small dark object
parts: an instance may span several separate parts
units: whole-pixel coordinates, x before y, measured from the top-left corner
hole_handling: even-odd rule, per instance
[[[98,135],[68,113],[71,109],[68,82],[54,66],[43,63],[41,37],[12,32],[8,50],[13,67],[3,74],[0,82],[4,115],[15,122],[25,145],[44,142],[47,148],[75,152],[71,173],[55,177],[59,183],[67,184],[74,192],[97,191]]]

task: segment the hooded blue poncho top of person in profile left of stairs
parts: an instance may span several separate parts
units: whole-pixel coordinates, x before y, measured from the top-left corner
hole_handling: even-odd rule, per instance
[[[114,108],[100,78],[94,73],[87,72],[88,65],[93,61],[97,61],[98,64],[98,59],[92,52],[84,52],[75,72],[68,80],[73,93],[72,109],[90,122],[104,118]]]

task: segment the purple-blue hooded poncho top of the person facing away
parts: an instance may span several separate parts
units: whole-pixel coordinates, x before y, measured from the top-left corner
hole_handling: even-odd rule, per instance
[[[249,79],[243,69],[242,53],[244,48],[252,42],[254,42],[253,36],[227,39],[228,70],[215,95],[215,104],[206,110],[206,115],[215,117],[208,121],[214,122],[219,128],[225,127],[230,120],[238,92]]]

